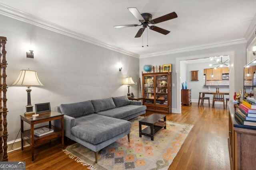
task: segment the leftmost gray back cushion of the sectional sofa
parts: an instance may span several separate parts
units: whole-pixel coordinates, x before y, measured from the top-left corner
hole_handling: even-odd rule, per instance
[[[71,117],[78,117],[95,112],[90,100],[71,104],[61,104],[60,111],[64,115]]]

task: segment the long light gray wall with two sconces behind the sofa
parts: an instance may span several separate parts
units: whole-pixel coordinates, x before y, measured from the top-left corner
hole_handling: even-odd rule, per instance
[[[138,82],[139,60],[134,57],[6,16],[0,15],[0,20],[1,36],[8,39],[8,141],[15,139],[19,115],[27,104],[26,87],[12,86],[22,69],[36,70],[44,84],[31,88],[32,105],[50,102],[52,109],[65,103],[126,95],[128,88],[122,83],[127,76]],[[26,58],[30,49],[34,59]],[[121,72],[118,63],[123,65]],[[138,96],[138,85],[131,85],[130,92]]]

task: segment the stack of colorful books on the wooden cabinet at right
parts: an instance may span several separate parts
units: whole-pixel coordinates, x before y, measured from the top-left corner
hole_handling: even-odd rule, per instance
[[[256,100],[254,98],[247,98],[236,109],[235,120],[248,126],[256,126]]]

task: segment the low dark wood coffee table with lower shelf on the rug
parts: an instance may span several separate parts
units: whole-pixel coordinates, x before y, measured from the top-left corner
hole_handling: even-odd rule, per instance
[[[151,137],[151,141],[154,141],[154,135],[156,133],[158,133],[158,131],[160,131],[160,129],[162,129],[163,127],[161,126],[156,126],[154,125],[154,123],[156,123],[157,121],[159,121],[160,119],[164,118],[164,121],[166,121],[166,115],[160,115],[160,114],[152,114],[142,120],[139,121],[139,132],[140,132],[140,137],[142,135],[147,136],[147,137]],[[142,125],[146,125],[148,127],[146,127],[145,129],[141,129]],[[164,127],[164,129],[166,129],[166,125]]]

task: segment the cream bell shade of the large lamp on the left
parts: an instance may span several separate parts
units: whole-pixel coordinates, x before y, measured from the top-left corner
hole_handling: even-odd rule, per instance
[[[17,80],[14,82],[16,86],[44,86],[38,76],[36,71],[32,70],[20,70],[20,75]]]

